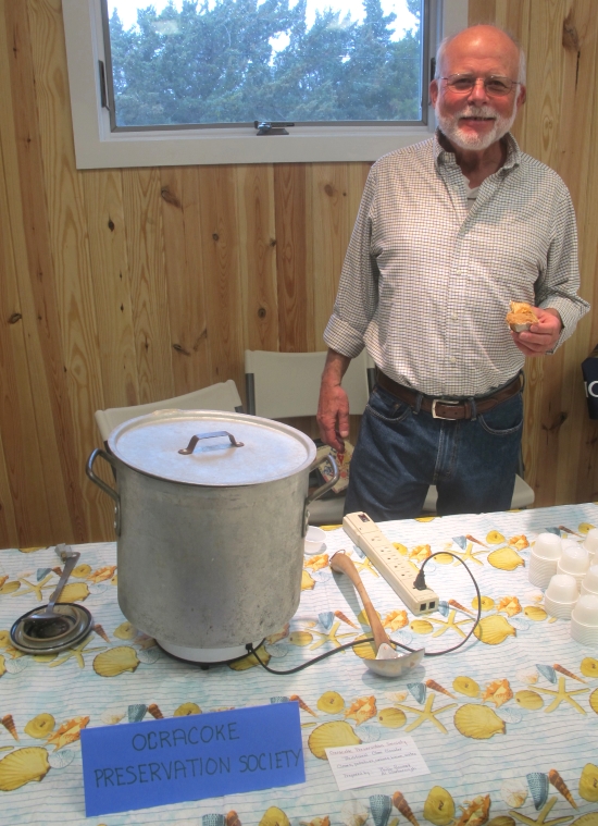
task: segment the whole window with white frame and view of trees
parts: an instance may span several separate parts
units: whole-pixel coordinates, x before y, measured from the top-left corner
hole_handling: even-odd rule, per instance
[[[428,135],[428,54],[466,25],[466,0],[63,0],[63,14],[79,169],[347,161]],[[295,125],[258,136],[253,121]]]

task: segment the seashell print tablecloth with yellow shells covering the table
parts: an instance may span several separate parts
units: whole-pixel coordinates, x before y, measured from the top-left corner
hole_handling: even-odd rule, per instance
[[[52,548],[0,552],[0,822],[61,826],[598,826],[598,649],[574,642],[527,580],[530,548],[546,530],[583,541],[594,504],[521,513],[385,522],[398,554],[420,567],[451,551],[482,593],[479,639],[426,657],[408,677],[366,669],[367,644],[290,676],[250,659],[201,670],[172,659],[125,620],[116,602],[114,543],[78,546],[70,600],[95,630],[55,655],[20,655],[12,622],[47,602],[59,574]],[[351,554],[390,633],[427,652],[471,630],[475,590],[448,554],[426,566],[439,611],[413,617],[341,529],[306,557],[301,604],[263,644],[291,668],[367,634],[354,589],[328,559]],[[259,577],[260,571],[254,571]],[[301,708],[307,782],[242,796],[85,818],[80,730],[86,726],[199,714],[295,699]],[[431,774],[338,791],[324,749],[410,733]]]

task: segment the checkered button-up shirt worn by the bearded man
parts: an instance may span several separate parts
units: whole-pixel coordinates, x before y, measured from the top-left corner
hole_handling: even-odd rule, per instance
[[[569,190],[507,136],[506,163],[468,210],[454,155],[433,137],[371,169],[342,267],[326,344],[367,347],[395,381],[432,396],[488,393],[524,356],[509,303],[553,307],[560,345],[589,306],[580,286]]]

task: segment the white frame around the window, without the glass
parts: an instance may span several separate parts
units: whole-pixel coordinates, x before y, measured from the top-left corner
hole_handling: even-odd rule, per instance
[[[289,135],[271,137],[258,137],[253,126],[113,132],[100,86],[99,62],[105,65],[101,4],[62,0],[62,8],[77,169],[373,161],[425,140],[434,130],[428,106],[427,126],[300,124]],[[466,23],[468,0],[429,0],[426,65],[441,37]]]

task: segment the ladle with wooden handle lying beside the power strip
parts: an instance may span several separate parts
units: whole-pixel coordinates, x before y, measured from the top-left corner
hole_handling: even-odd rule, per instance
[[[345,574],[349,577],[363,603],[363,609],[374,637],[374,652],[376,654],[375,659],[364,659],[367,668],[381,677],[400,677],[403,670],[419,665],[423,659],[424,649],[408,654],[399,654],[393,648],[353,560],[342,551],[338,551],[331,559],[331,568],[337,574]]]

